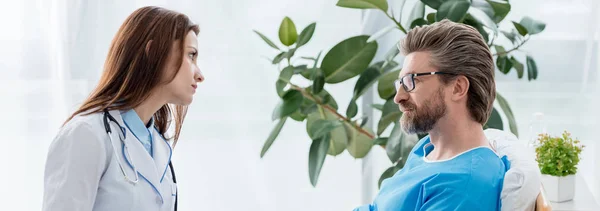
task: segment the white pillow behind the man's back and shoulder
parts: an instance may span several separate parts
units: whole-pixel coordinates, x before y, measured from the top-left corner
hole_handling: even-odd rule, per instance
[[[541,173],[534,151],[510,132],[486,129],[484,133],[498,156],[506,155],[510,169],[504,175],[502,211],[533,211],[540,193]]]

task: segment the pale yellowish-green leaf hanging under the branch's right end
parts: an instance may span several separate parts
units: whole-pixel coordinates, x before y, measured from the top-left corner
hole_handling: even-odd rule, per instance
[[[346,146],[348,153],[354,158],[365,157],[373,146],[373,139],[359,132],[348,123],[344,123],[344,128],[346,129],[346,134],[348,136],[348,145]],[[363,127],[362,129],[373,134],[373,131],[368,127]]]

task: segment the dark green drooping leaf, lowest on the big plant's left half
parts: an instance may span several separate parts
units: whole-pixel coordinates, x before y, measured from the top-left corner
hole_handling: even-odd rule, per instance
[[[310,151],[308,152],[308,175],[313,187],[317,186],[317,180],[319,179],[321,168],[329,150],[329,142],[329,135],[325,135],[313,140],[310,145]]]

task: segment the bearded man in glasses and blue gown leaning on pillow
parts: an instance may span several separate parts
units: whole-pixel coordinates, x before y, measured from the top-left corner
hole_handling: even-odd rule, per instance
[[[509,163],[483,133],[496,96],[494,61],[474,28],[444,20],[411,30],[395,82],[402,129],[429,133],[404,168],[357,211],[500,210]]]

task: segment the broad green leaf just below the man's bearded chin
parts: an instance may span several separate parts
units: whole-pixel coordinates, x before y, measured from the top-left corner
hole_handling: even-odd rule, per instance
[[[400,123],[394,124],[392,133],[385,145],[385,151],[392,163],[406,162],[412,148],[419,141],[416,135],[408,135],[402,131]]]

